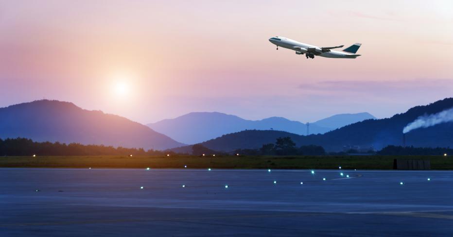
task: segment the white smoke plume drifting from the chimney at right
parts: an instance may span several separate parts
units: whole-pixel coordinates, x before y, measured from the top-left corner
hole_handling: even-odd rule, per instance
[[[407,124],[402,130],[403,133],[409,133],[417,128],[427,128],[439,123],[453,121],[453,108],[446,109],[437,114],[423,115],[415,119],[413,122]]]

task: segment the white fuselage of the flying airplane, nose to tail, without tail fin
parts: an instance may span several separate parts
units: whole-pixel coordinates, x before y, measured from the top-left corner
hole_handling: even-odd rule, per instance
[[[278,38],[278,39],[273,39],[273,38]],[[289,50],[294,50],[296,51],[297,54],[303,54],[307,53],[306,51],[303,51],[305,48],[315,48],[316,52],[314,55],[316,56],[321,56],[321,57],[326,57],[326,58],[355,58],[354,53],[349,53],[349,52],[344,52],[344,51],[329,51],[329,52],[322,52],[321,47],[315,46],[315,45],[310,45],[310,44],[305,44],[298,42],[293,39],[285,38],[285,37],[273,37],[270,38],[269,41],[278,47],[289,49]],[[301,49],[297,48],[300,47]],[[310,52],[309,52],[310,53]],[[357,55],[360,56],[360,55]]]

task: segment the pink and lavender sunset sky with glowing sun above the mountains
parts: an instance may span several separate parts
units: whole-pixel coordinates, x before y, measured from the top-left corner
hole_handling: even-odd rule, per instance
[[[0,0],[0,107],[387,118],[453,96],[452,32],[451,0]],[[306,59],[277,35],[362,56]]]

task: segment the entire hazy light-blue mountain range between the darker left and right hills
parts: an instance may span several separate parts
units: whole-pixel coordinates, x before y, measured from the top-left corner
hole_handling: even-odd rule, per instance
[[[338,119],[338,121],[335,121],[335,119]],[[349,123],[364,119],[374,119],[374,117],[368,113],[332,116],[311,123],[310,134],[324,134]],[[320,124],[326,124],[330,127]],[[234,115],[218,112],[194,112],[175,119],[164,119],[147,125],[159,133],[188,144],[207,141],[221,135],[240,132],[246,129],[286,131],[299,135],[307,134],[306,124],[298,121],[291,121],[281,117],[246,120]]]

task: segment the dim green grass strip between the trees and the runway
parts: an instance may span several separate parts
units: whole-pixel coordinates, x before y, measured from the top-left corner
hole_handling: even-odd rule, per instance
[[[450,156],[6,156],[0,167],[160,169],[393,169],[393,159],[429,159],[431,169],[453,169]]]

